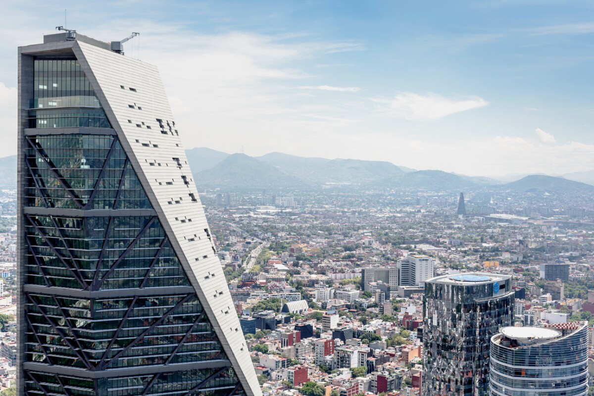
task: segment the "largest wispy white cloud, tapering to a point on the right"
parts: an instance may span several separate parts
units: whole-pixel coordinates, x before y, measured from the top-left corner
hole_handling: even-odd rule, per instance
[[[387,115],[409,121],[432,121],[488,104],[478,96],[454,99],[436,93],[420,95],[413,92],[401,92],[393,99],[374,99],[374,102],[385,104],[382,111]]]

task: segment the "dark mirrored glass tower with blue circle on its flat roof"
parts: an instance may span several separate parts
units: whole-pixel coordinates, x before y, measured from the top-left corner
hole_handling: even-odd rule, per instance
[[[424,395],[485,396],[489,340],[513,325],[511,275],[465,273],[425,282]]]

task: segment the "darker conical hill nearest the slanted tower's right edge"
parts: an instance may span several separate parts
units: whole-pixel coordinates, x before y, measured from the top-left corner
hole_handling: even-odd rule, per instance
[[[210,169],[194,172],[196,185],[225,190],[299,187],[304,183],[245,154],[231,154]]]

